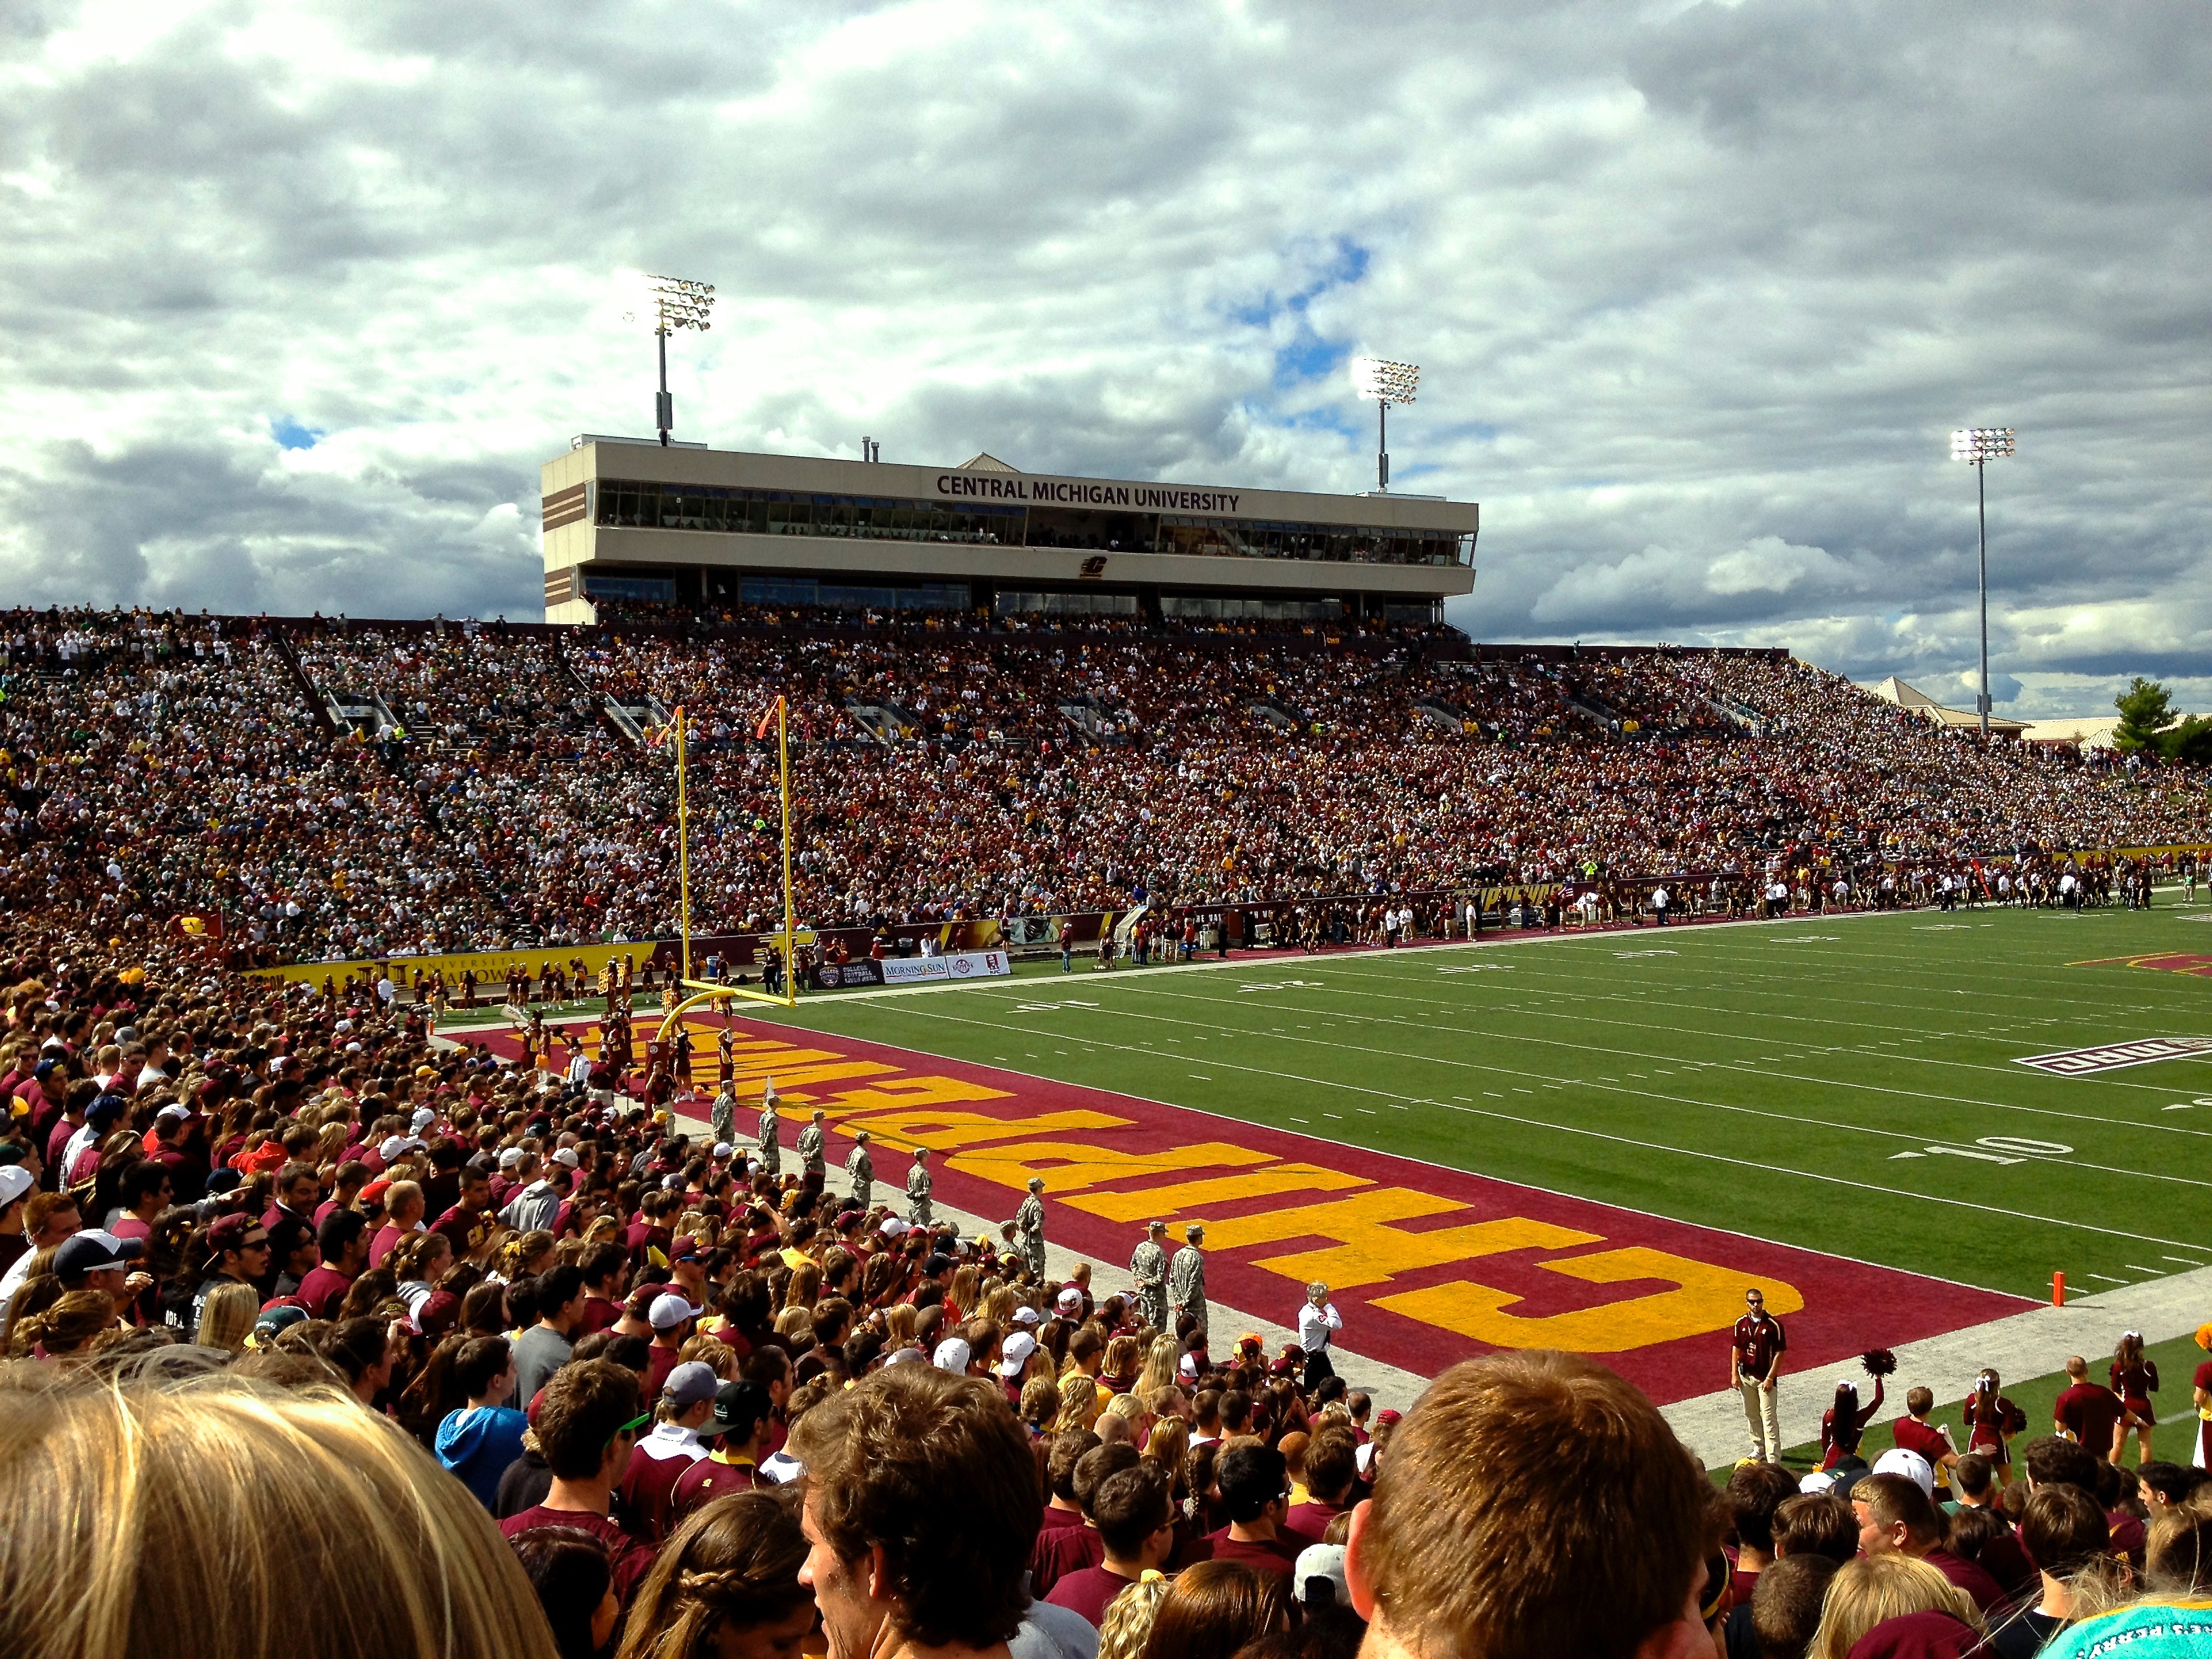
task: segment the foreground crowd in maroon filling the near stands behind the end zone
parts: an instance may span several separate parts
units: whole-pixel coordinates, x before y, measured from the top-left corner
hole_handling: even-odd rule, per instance
[[[1854,1394],[1812,1473],[1717,1484],[1588,1358],[1498,1354],[1374,1411],[1325,1285],[1270,1352],[1137,1237],[1126,1274],[1046,1274],[856,1206],[787,1128],[781,1175],[688,1137],[604,1055],[507,1066],[186,949],[0,927],[9,1652],[2212,1641],[2212,1478],[2168,1427],[2168,1460],[2139,1429],[2121,1462],[2157,1416],[2139,1347],[2073,1440],[1989,1374],[1964,1449],[1900,1429],[1869,1464]]]

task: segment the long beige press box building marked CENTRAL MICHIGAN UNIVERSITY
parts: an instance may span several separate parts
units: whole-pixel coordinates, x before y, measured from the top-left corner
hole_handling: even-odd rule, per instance
[[[604,599],[1429,622],[1473,502],[750,456],[582,436],[542,467],[546,622]]]

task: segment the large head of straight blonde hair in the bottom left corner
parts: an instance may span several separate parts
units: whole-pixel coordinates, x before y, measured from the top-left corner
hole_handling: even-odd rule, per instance
[[[0,1491],[11,1655],[555,1659],[484,1506],[341,1389],[11,1365]]]

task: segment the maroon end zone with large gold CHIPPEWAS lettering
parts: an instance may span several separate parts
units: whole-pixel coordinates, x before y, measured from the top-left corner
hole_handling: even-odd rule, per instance
[[[971,1066],[911,1048],[734,1022],[741,1133],[774,1077],[785,1146],[814,1108],[832,1161],[869,1130],[878,1199],[902,1208],[914,1146],[933,1150],[942,1203],[1011,1217],[1046,1181],[1046,1237],[1126,1285],[1148,1221],[1206,1225],[1217,1305],[1296,1323],[1327,1281],[1343,1347],[1422,1376],[1498,1347],[1564,1347],[1659,1405],[1728,1385],[1728,1329],[1745,1285],[1790,1327],[1790,1369],[1847,1363],[2017,1314],[2028,1303],[1712,1228],[1559,1197],[1133,1095]],[[695,1071],[714,1088],[721,1024],[695,1022]],[[595,1033],[593,1033],[595,1035]],[[509,1035],[487,1037],[513,1055]],[[1214,1347],[1234,1332],[1214,1329]]]

